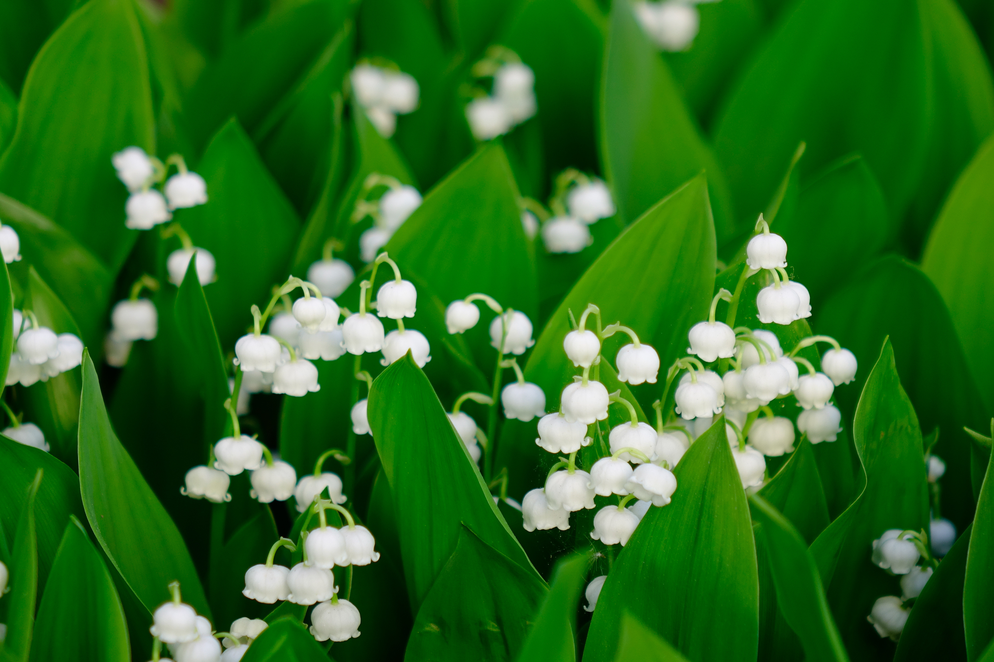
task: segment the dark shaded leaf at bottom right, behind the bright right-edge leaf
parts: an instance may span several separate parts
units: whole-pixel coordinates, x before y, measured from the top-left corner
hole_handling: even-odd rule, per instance
[[[965,660],[963,633],[963,583],[972,527],[960,534],[921,595],[901,632],[895,662],[936,659]]]

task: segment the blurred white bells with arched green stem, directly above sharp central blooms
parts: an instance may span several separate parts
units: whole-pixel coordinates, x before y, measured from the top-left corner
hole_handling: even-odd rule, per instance
[[[370,199],[375,191],[380,192],[380,198]],[[358,223],[366,216],[373,217],[373,225],[359,235],[359,257],[363,262],[375,260],[380,249],[387,245],[394,232],[420,205],[421,195],[414,187],[401,184],[388,175],[371,173],[363,183],[363,190],[356,199],[352,212],[353,223]]]

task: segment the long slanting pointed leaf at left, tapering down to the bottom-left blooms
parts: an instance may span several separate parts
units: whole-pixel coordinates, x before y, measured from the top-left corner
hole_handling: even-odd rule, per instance
[[[80,489],[96,540],[149,611],[169,598],[167,585],[179,581],[184,601],[211,617],[179,530],[110,428],[96,370],[85,351]]]

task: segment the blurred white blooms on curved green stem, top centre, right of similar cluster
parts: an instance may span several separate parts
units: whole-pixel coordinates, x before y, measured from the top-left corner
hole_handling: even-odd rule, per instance
[[[532,117],[538,109],[535,100],[535,72],[513,52],[492,48],[487,57],[473,66],[476,77],[493,76],[490,94],[482,91],[466,105],[466,120],[477,140],[493,140]]]

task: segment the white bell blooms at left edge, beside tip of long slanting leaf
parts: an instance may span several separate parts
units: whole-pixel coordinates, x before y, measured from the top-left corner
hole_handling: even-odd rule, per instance
[[[56,333],[38,323],[32,311],[14,309],[14,351],[7,386],[31,386],[72,370],[83,362],[83,340],[74,333]]]

